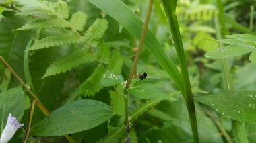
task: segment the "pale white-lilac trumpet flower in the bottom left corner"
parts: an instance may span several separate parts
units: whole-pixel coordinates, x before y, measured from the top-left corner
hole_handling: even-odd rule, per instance
[[[20,122],[18,122],[16,118],[13,115],[11,115],[11,113],[9,113],[7,124],[0,137],[0,143],[9,142],[9,140],[11,140],[11,138],[13,137],[15,132],[18,130],[18,128],[20,128],[23,125],[24,124],[20,124]]]

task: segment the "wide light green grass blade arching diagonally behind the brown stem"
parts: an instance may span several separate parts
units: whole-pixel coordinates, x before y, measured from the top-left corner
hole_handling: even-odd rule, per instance
[[[139,40],[142,32],[143,22],[135,13],[133,13],[127,5],[120,0],[88,0],[96,7],[105,11],[108,15],[118,21],[128,32],[130,32],[137,40]],[[151,30],[147,30],[144,45],[151,54],[158,60],[160,65],[166,70],[172,78],[181,93],[185,94],[185,84],[181,74],[172,60],[165,54],[160,42],[156,39]]]

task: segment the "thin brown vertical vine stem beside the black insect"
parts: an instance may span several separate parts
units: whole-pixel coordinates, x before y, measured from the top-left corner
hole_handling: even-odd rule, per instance
[[[150,0],[150,3],[148,5],[146,20],[145,20],[145,23],[143,25],[141,37],[140,37],[140,40],[139,40],[139,47],[137,48],[137,52],[136,52],[135,58],[133,60],[133,66],[131,67],[131,71],[130,71],[129,77],[127,79],[127,83],[125,85],[125,89],[129,89],[129,86],[131,84],[131,79],[133,79],[133,75],[135,75],[135,71],[136,71],[136,68],[137,68],[137,63],[139,62],[139,56],[141,54],[141,49],[142,49],[143,43],[144,43],[145,38],[146,38],[146,32],[148,30],[148,23],[150,21],[150,15],[151,15],[153,3],[154,3],[154,0]],[[124,98],[124,100],[125,100],[125,126],[127,126],[129,124],[127,90],[124,91],[124,94],[125,94],[125,98]],[[129,134],[129,133],[127,132],[127,134]]]

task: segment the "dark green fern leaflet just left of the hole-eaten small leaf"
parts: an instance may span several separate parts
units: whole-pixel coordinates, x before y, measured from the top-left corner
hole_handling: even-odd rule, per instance
[[[92,75],[84,82],[79,88],[79,93],[84,93],[84,96],[93,96],[95,93],[102,89],[100,85],[100,79],[104,73],[103,66],[99,65]]]

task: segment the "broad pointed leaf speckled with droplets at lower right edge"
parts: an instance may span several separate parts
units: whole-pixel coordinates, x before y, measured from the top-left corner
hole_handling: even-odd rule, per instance
[[[195,97],[195,101],[205,103],[222,115],[234,120],[256,123],[256,91],[234,91]]]

